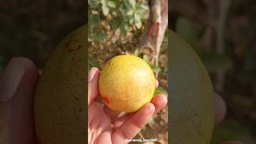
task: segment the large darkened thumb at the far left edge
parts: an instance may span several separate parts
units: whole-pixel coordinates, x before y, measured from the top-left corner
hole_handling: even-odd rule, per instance
[[[12,58],[0,81],[0,143],[32,144],[34,90],[38,68],[27,58]]]

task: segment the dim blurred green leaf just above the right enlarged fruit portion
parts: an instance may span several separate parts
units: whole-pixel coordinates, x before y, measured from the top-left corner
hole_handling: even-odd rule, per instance
[[[198,47],[198,34],[194,26],[186,18],[178,18],[176,23],[176,32],[190,43],[194,49]]]

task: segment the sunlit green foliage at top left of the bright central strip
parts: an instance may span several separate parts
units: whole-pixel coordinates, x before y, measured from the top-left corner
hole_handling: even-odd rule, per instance
[[[130,31],[141,30],[149,7],[145,0],[88,0],[90,42],[102,42],[121,31],[125,38]]]

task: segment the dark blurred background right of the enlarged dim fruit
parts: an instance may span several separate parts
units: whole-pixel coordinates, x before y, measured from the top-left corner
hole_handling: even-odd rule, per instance
[[[227,105],[212,144],[256,143],[256,1],[174,0],[170,25],[198,53]]]

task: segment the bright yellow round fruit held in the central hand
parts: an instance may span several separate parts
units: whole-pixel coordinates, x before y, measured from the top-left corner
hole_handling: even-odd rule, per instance
[[[153,98],[154,82],[154,73],[142,58],[125,54],[106,62],[98,88],[111,110],[134,112]]]

